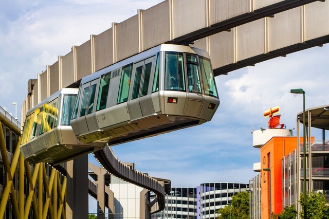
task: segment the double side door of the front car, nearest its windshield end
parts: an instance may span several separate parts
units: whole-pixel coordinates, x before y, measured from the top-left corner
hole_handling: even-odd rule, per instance
[[[128,102],[128,110],[132,120],[142,118],[143,116],[150,115],[154,112],[151,98],[148,98],[153,62],[154,57],[143,60],[134,65],[132,89],[130,92],[130,100]]]

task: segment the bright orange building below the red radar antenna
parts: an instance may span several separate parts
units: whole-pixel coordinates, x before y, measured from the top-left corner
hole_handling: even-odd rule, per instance
[[[261,147],[261,215],[282,212],[282,158],[297,149],[296,137],[272,137]]]

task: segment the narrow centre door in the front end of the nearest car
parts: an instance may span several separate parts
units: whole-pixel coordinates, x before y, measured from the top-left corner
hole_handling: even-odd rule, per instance
[[[197,56],[186,54],[186,69],[188,80],[188,105],[186,114],[190,116],[199,116],[204,102],[202,95],[201,78]]]

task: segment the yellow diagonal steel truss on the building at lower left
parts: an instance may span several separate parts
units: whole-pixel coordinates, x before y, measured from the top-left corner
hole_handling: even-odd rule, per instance
[[[6,124],[5,119],[0,118],[0,152],[6,174],[6,183],[0,202],[0,218],[4,218],[8,201],[11,203],[15,218],[66,218],[66,177],[60,177],[60,173],[54,168],[51,168],[48,177],[46,163],[37,163],[31,167],[21,154],[21,137],[17,141],[16,149],[9,162],[2,123],[5,126],[9,125]],[[18,173],[19,179],[16,188],[14,188],[15,173]],[[24,193],[24,177],[28,184],[26,194]]]

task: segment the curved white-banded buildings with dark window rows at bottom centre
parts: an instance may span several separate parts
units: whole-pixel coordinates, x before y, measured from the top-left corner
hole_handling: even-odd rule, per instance
[[[196,188],[172,187],[166,195],[165,210],[152,214],[152,219],[217,217],[217,211],[231,202],[232,196],[247,190],[247,184],[209,182]]]

